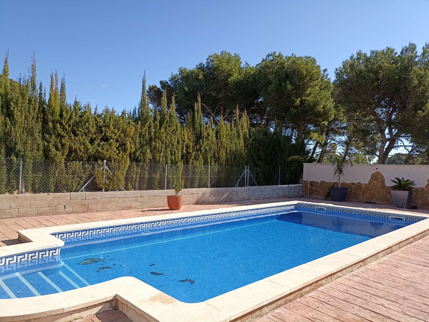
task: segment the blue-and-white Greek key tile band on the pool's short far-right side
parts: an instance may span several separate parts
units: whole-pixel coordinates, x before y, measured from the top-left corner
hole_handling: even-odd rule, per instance
[[[404,218],[403,223],[407,225],[417,223],[420,220],[424,219],[419,217],[404,216],[402,214],[386,214],[386,213],[375,212],[375,211],[365,211],[361,209],[336,208],[336,207],[329,207],[324,205],[309,205],[309,204],[301,204],[301,203],[298,203],[296,205],[296,210],[315,211],[315,212],[332,214],[337,216],[339,215],[339,216],[346,216],[346,217],[390,221],[390,222],[397,222],[396,220],[390,219],[390,216],[396,217],[396,218],[400,217],[400,218]]]

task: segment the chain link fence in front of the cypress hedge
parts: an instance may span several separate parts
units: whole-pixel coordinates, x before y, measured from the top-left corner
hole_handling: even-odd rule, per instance
[[[297,184],[302,163],[265,169],[151,163],[0,159],[0,194]]]

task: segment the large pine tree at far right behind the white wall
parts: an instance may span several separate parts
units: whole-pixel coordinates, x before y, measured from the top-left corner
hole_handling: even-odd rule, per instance
[[[335,70],[335,98],[353,135],[380,164],[396,147],[427,138],[428,51],[428,43],[421,54],[414,43],[399,53],[390,47],[358,51]],[[419,123],[423,132],[416,131]]]

